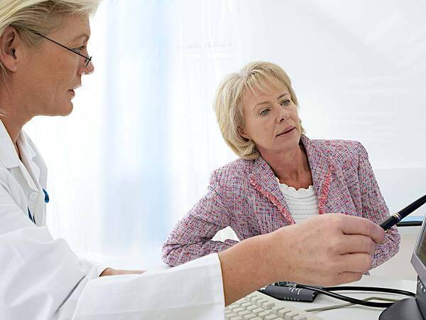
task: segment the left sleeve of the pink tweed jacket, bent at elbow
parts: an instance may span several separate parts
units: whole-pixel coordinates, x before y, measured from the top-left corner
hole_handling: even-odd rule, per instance
[[[235,240],[212,240],[219,230],[230,225],[231,210],[231,193],[226,186],[221,186],[214,172],[207,194],[175,225],[165,240],[163,261],[173,267],[235,245]]]

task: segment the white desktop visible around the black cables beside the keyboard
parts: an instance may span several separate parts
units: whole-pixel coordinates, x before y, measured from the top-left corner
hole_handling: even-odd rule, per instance
[[[375,277],[364,275],[361,280],[357,282],[352,282],[352,286],[364,286],[364,287],[388,287],[394,289],[403,289],[410,292],[415,292],[416,282],[413,280],[403,280],[403,279],[391,279],[386,277]],[[340,293],[340,292],[339,292]],[[397,294],[382,294],[375,292],[359,293],[359,292],[344,292],[345,295],[349,297],[354,297],[358,299],[364,299],[366,297],[376,296],[376,297],[387,297],[395,299],[405,299],[405,296],[399,296]],[[341,300],[333,299],[331,297],[324,296],[324,294],[318,294],[315,302],[286,302],[292,304],[299,309],[311,309],[321,306],[331,306],[334,304],[345,304]],[[313,314],[320,316],[324,320],[377,320],[378,316],[384,309],[381,308],[371,308],[368,306],[346,306],[342,309],[334,309],[327,311],[315,312]]]

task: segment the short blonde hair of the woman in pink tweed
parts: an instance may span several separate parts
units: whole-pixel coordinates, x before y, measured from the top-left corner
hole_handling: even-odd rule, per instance
[[[222,137],[226,144],[243,159],[257,159],[260,154],[252,140],[241,137],[239,128],[244,127],[242,97],[246,90],[268,92],[271,83],[284,85],[290,93],[291,100],[297,106],[297,97],[291,86],[290,78],[283,68],[273,63],[255,61],[245,65],[239,73],[231,73],[222,80],[217,89],[214,102]],[[303,132],[303,128],[300,126]]]

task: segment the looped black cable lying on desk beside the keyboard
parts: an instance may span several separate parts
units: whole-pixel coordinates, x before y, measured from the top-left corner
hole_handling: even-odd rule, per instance
[[[316,286],[307,286],[305,284],[293,284],[296,288],[309,289],[318,293],[325,294],[326,296],[333,297],[335,299],[343,300],[350,302],[351,304],[361,304],[362,306],[373,306],[375,308],[387,308],[393,303],[389,302],[368,302],[360,299],[355,299],[351,297],[346,297],[342,294],[334,293],[333,291],[370,291],[370,292],[386,292],[392,294],[401,294],[404,296],[415,297],[413,292],[408,292],[400,289],[391,289],[391,288],[379,288],[379,287],[316,287]]]

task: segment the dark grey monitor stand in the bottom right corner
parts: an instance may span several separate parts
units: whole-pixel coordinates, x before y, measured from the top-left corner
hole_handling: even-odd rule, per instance
[[[420,277],[417,277],[417,292],[415,298],[403,299],[395,302],[384,310],[379,320],[425,320],[426,314],[426,286]]]

